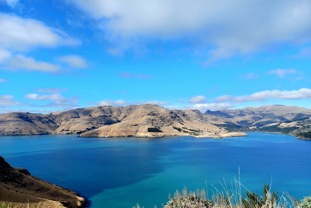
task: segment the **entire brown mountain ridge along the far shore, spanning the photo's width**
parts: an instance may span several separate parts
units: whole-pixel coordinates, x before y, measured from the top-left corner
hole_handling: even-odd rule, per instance
[[[0,114],[0,135],[77,133],[81,137],[217,137],[220,133],[230,131],[228,126],[260,129],[280,124],[279,127],[286,127],[282,123],[289,125],[289,121],[301,122],[304,119],[305,126],[295,124],[304,128],[309,124],[308,117],[311,117],[310,109],[282,105],[207,110],[205,113],[198,110],[169,110],[154,104],[94,106],[48,114]],[[148,128],[160,129],[162,133],[148,132]],[[239,128],[235,130],[241,131]]]

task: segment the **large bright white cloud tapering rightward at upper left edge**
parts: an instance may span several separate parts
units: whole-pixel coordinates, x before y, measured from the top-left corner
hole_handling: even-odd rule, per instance
[[[0,13],[0,47],[24,51],[32,47],[77,45],[80,41],[43,22]]]

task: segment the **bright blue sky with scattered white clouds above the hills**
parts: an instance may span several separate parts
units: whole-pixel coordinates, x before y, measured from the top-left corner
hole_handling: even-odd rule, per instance
[[[0,0],[0,113],[310,98],[310,0]]]

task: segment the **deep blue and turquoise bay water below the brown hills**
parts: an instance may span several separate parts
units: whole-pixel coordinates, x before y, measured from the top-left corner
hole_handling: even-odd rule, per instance
[[[231,190],[234,177],[251,191],[264,182],[296,199],[311,191],[311,141],[248,133],[224,139],[0,137],[0,156],[43,180],[78,192],[89,207],[160,208],[176,189]],[[239,174],[240,170],[240,174]],[[206,183],[205,183],[206,181]],[[214,188],[215,187],[215,188]],[[243,189],[242,192],[245,192]]]

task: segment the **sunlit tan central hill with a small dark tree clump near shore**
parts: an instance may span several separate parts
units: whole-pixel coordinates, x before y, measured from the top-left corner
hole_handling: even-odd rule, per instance
[[[171,111],[153,104],[118,107],[118,111],[112,112],[111,117],[118,118],[119,122],[81,133],[80,136],[162,137],[223,132],[217,126],[210,124],[200,111]],[[148,128],[157,128],[162,132],[148,132]]]

